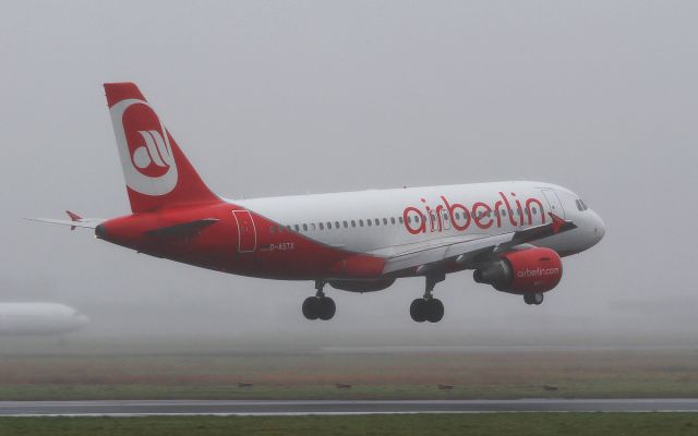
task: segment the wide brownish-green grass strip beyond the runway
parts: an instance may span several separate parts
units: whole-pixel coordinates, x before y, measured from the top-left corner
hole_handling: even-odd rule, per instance
[[[0,400],[527,397],[698,397],[698,350],[0,356]]]

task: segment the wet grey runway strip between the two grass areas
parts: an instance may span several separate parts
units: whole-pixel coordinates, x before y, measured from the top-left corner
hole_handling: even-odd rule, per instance
[[[0,416],[314,415],[488,412],[698,412],[698,398],[432,401],[0,401]]]

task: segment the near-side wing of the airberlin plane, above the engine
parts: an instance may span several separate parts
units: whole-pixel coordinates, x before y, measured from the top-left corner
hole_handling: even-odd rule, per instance
[[[467,264],[474,257],[483,254],[502,253],[516,245],[526,244],[543,238],[576,229],[571,221],[566,221],[554,214],[549,214],[552,222],[530,227],[528,229],[502,234],[482,237],[461,242],[446,242],[437,246],[429,246],[388,257],[383,267],[383,274],[389,274],[408,268],[429,268],[440,263],[454,261],[457,264]]]

